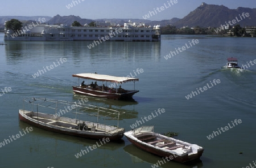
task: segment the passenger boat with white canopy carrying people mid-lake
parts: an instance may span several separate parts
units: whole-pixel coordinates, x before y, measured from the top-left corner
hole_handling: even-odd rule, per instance
[[[78,79],[82,78],[82,79],[89,79],[89,80],[95,81],[94,83],[92,82],[91,84],[82,83],[81,85],[73,86],[73,92],[75,94],[82,94],[85,96],[93,96],[93,97],[101,97],[101,98],[112,98],[115,100],[126,100],[126,99],[131,99],[133,97],[133,94],[139,92],[139,91],[135,91],[135,81],[139,81],[138,78],[117,77],[117,76],[100,75],[100,74],[76,74],[72,76],[78,77]],[[102,85],[98,85],[97,81],[102,81]],[[121,88],[121,84],[126,83],[128,81],[134,82],[133,90],[126,90]],[[107,82],[112,84],[108,87]],[[79,81],[79,84],[80,84],[80,81]]]

